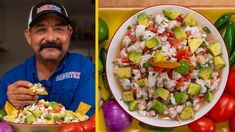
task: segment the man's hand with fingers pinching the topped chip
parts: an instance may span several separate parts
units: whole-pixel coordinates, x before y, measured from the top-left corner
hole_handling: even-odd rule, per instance
[[[37,95],[30,95],[29,88],[33,84],[28,81],[16,81],[7,87],[8,101],[16,109],[20,109],[22,106],[33,104],[37,101]]]

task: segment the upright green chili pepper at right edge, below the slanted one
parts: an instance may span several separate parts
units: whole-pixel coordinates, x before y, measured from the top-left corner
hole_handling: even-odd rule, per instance
[[[226,26],[226,32],[224,36],[224,42],[226,44],[229,56],[233,48],[232,47],[233,46],[233,33],[234,33],[233,22],[229,21]]]

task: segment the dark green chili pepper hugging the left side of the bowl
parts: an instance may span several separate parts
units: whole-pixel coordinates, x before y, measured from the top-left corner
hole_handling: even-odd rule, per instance
[[[101,48],[100,49],[100,61],[103,64],[104,70],[102,73],[102,80],[103,80],[103,84],[104,84],[104,88],[107,90],[108,92],[108,98],[105,99],[104,101],[107,101],[109,99],[112,98],[112,93],[110,91],[109,85],[108,85],[108,81],[107,81],[107,77],[106,77],[106,66],[105,66],[105,61],[106,61],[106,49],[105,48]]]

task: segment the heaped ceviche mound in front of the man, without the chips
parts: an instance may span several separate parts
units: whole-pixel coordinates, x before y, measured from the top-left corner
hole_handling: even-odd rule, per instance
[[[23,110],[15,110],[10,115],[4,116],[4,120],[23,124],[62,124],[85,121],[89,117],[79,112],[66,110],[57,102],[40,100],[38,103],[29,105]]]

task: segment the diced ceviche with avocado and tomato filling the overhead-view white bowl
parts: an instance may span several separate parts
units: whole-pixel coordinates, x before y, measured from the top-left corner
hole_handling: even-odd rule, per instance
[[[122,100],[142,116],[188,120],[213,100],[226,66],[221,43],[193,13],[140,13],[114,60]]]

